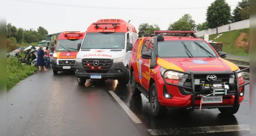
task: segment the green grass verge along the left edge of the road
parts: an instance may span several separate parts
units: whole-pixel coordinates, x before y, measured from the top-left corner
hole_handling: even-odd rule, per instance
[[[23,65],[17,58],[7,58],[6,60],[6,89],[10,90],[20,81],[37,71],[37,67]]]

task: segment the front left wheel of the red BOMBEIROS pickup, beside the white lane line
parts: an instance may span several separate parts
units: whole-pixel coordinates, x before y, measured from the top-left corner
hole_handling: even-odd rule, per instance
[[[167,108],[165,106],[160,105],[158,101],[156,83],[153,83],[150,89],[150,109],[151,114],[154,117],[164,116],[168,111]]]

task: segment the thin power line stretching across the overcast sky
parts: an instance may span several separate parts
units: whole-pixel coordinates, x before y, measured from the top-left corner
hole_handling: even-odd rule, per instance
[[[39,1],[30,1],[30,0],[11,0],[11,1],[35,3],[35,4],[45,4],[45,5],[54,5],[54,6],[67,6],[67,7],[80,7],[80,8],[98,8],[98,9],[110,9],[110,10],[197,10],[197,9],[207,9],[208,8],[208,7],[182,7],[182,8],[102,7],[102,6],[83,6],[83,5],[70,5],[70,4],[61,4],[61,3],[48,3],[48,2],[39,2]],[[230,5],[230,6],[236,6],[236,5]]]

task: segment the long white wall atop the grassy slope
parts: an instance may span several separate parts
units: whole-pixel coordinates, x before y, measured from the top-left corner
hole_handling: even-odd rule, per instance
[[[217,27],[217,28],[213,28],[213,29],[198,31],[195,34],[198,37],[201,37],[201,36],[203,36],[203,34],[209,34],[209,35],[219,34],[219,33],[224,33],[224,32],[228,32],[228,31],[239,30],[239,29],[244,29],[244,28],[250,28],[250,19],[230,23],[225,26],[221,26],[221,27]]]

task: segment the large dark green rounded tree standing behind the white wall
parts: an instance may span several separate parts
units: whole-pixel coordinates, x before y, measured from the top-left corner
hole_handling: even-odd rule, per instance
[[[215,0],[207,9],[206,20],[209,28],[216,28],[229,24],[231,8],[226,0]]]

